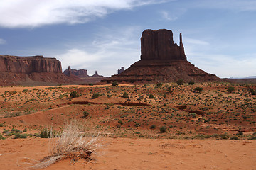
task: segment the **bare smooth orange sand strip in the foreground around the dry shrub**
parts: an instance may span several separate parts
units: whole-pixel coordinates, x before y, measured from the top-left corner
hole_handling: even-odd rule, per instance
[[[92,162],[60,161],[46,169],[256,169],[253,140],[105,138]],[[26,169],[49,154],[48,139],[0,140],[0,169]]]

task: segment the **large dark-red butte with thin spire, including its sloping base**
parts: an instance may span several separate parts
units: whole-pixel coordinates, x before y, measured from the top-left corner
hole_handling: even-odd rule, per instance
[[[144,30],[141,38],[141,60],[120,74],[102,80],[125,82],[220,81],[187,61],[180,33],[180,43],[174,42],[171,30]]]

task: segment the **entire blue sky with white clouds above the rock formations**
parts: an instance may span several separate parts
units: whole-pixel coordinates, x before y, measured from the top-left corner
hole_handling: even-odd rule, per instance
[[[0,55],[55,57],[63,71],[117,74],[140,60],[143,30],[163,28],[196,67],[256,76],[255,0],[0,1]]]

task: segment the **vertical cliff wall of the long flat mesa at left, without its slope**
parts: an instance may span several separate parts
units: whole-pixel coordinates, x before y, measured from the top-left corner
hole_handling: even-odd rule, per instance
[[[31,74],[33,72],[61,73],[61,63],[43,56],[18,57],[0,55],[0,72]]]

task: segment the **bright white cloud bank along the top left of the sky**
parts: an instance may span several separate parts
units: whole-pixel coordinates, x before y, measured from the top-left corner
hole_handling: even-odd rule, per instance
[[[155,0],[1,0],[0,26],[38,27],[58,23],[86,23],[118,10],[161,3]]]

